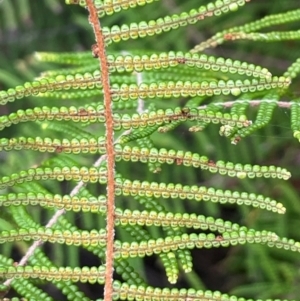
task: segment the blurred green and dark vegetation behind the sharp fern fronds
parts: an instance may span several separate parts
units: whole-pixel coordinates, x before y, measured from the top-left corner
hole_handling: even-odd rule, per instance
[[[207,4],[200,0],[161,0],[149,6],[135,10],[122,11],[110,17],[104,17],[105,26],[130,23],[140,20],[150,20],[171,15],[181,11]],[[218,18],[207,18],[194,26],[181,28],[169,33],[141,40],[122,42],[109,47],[109,50],[146,49],[147,51],[188,51],[197,43],[206,40],[218,31],[247,22],[260,19],[266,15],[286,12],[299,8],[297,0],[252,0],[235,13]],[[296,30],[299,23],[280,25],[269,30]],[[87,22],[87,12],[81,7],[66,6],[62,0],[0,0],[0,90],[30,81],[43,70],[53,68],[46,63],[34,60],[35,51],[84,51],[89,50],[94,43],[90,25]],[[223,56],[241,61],[252,62],[267,67],[274,75],[281,75],[286,68],[299,57],[300,41],[285,41],[278,43],[263,43],[236,41],[227,42],[206,53]],[[299,79],[292,85],[290,95],[282,100],[297,100],[299,96]],[[47,100],[49,101],[49,100]],[[206,103],[210,100],[207,99]],[[223,101],[222,98],[215,101]],[[184,104],[185,100],[176,100],[174,105]],[[45,105],[50,105],[44,102]],[[0,107],[0,115],[37,105],[37,100],[26,98],[13,104]],[[250,119],[255,118],[256,109],[249,110]],[[3,131],[2,135],[21,136],[38,129],[27,124],[12,127]],[[32,132],[31,132],[32,133]],[[154,137],[157,147],[168,147],[198,152],[213,160],[231,161],[234,163],[250,163],[259,165],[278,165],[289,169],[292,178],[288,182],[274,179],[254,179],[243,181],[212,175],[199,170],[176,167],[170,170],[164,167],[160,179],[162,182],[196,183],[221,189],[248,191],[268,195],[282,202],[287,212],[276,215],[259,209],[242,206],[219,206],[210,203],[190,203],[183,206],[178,201],[166,204],[173,211],[191,211],[198,214],[221,217],[244,224],[257,230],[267,229],[278,235],[300,241],[300,154],[299,142],[293,138],[290,129],[290,112],[287,109],[277,109],[271,124],[242,140],[237,146],[229,140],[219,137],[218,128],[209,126],[203,133],[191,134],[187,128],[179,127],[174,135]],[[23,153],[22,153],[23,154]],[[45,159],[40,155],[38,161]],[[25,154],[20,158],[19,152],[0,153],[0,175],[6,175],[7,170],[17,171],[25,165],[33,165],[37,160],[35,154]],[[124,165],[125,166],[125,165]],[[121,167],[122,168],[122,167]],[[125,167],[123,167],[125,168]],[[132,170],[136,177],[142,173],[138,167]],[[140,174],[141,178],[145,176]],[[147,175],[147,180],[155,180],[156,175]],[[68,187],[63,189],[67,190]],[[65,191],[66,193],[66,191]],[[129,207],[132,204],[127,204]],[[35,213],[45,224],[48,213]],[[51,212],[50,212],[51,214]],[[99,227],[88,215],[74,217],[82,228]],[[0,215],[0,228],[6,227],[5,218]],[[118,235],[126,235],[118,233]],[[77,249],[76,249],[77,250]],[[57,264],[66,265],[61,254],[62,247],[52,250]],[[0,246],[0,253],[13,252],[18,257],[20,249]],[[69,252],[69,251],[68,251]],[[284,250],[269,249],[258,245],[237,246],[228,249],[193,250],[194,272],[181,275],[178,287],[194,287],[228,292],[247,298],[298,298],[300,296],[300,256]],[[88,253],[70,251],[67,258],[76,265],[89,265],[94,260]],[[16,258],[17,260],[17,258]],[[70,264],[70,262],[68,262]],[[93,263],[95,264],[95,263]],[[136,264],[136,263],[135,263]],[[137,269],[145,267],[144,273],[150,285],[170,286],[157,258],[150,257],[140,261]],[[93,288],[85,285],[87,294],[93,296]]]

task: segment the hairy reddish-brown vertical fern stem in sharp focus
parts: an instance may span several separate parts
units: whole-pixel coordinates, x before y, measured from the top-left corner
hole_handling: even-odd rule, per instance
[[[106,117],[106,154],[107,154],[107,220],[106,220],[106,270],[104,301],[111,301],[113,295],[113,264],[114,264],[114,210],[115,210],[115,153],[114,131],[112,118],[112,99],[110,94],[108,62],[105,54],[105,42],[97,11],[93,0],[86,0],[89,11],[89,21],[96,38],[96,53],[102,74],[102,86],[104,94],[104,113]]]

